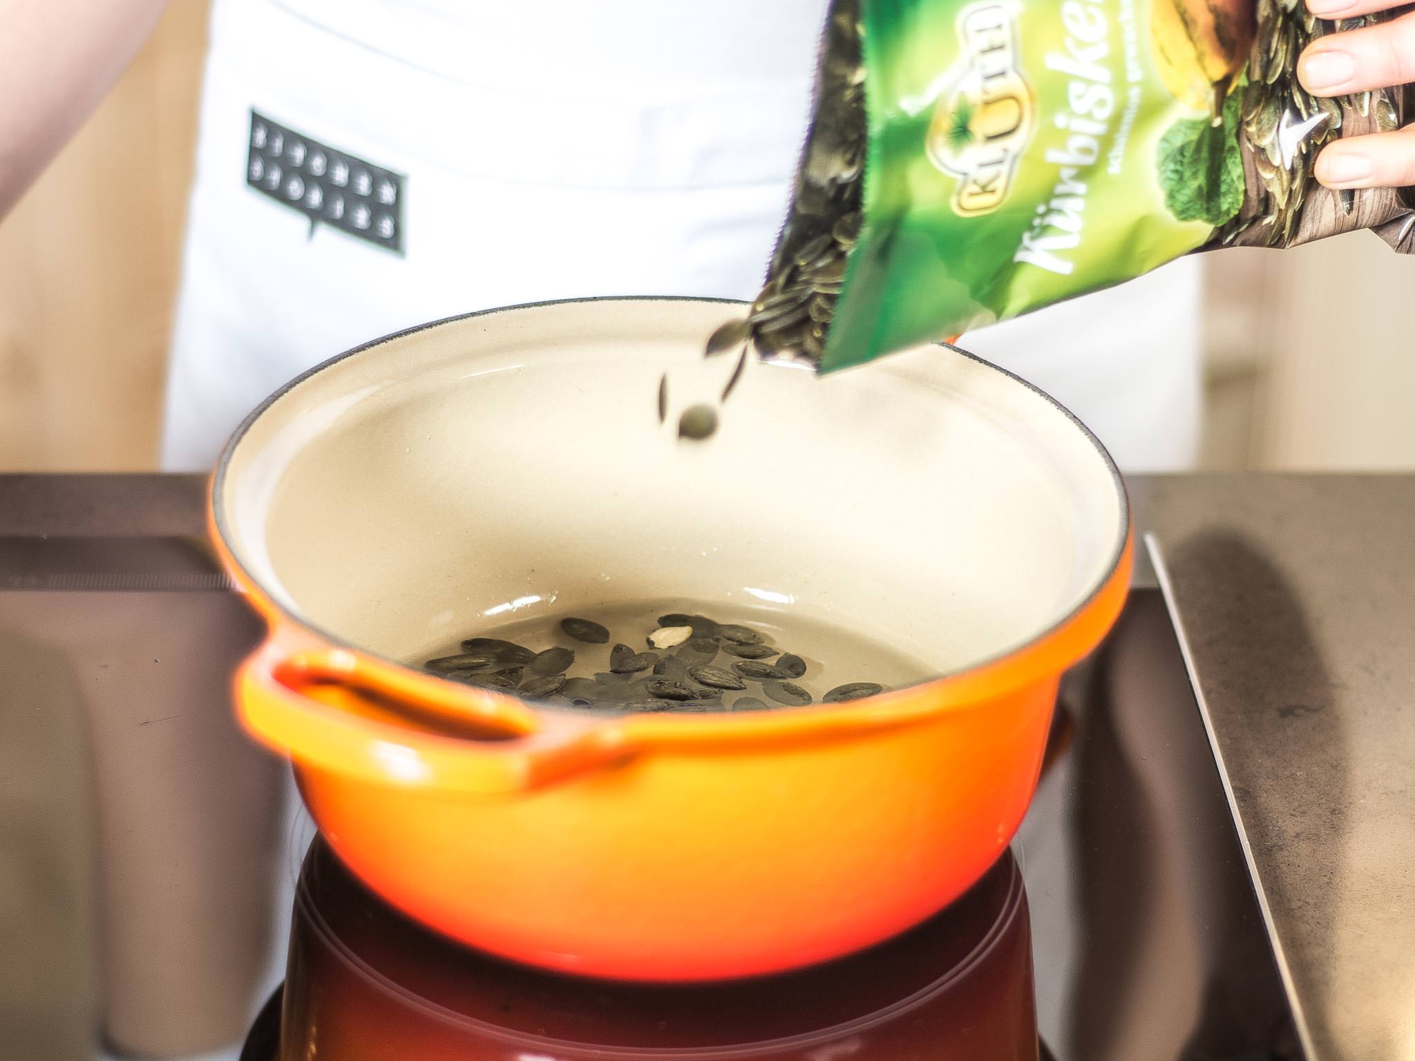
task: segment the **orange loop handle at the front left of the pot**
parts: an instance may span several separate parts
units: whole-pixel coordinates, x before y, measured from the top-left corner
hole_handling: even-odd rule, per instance
[[[519,792],[635,751],[616,720],[539,713],[357,652],[276,634],[236,671],[242,724],[299,765],[376,784]]]

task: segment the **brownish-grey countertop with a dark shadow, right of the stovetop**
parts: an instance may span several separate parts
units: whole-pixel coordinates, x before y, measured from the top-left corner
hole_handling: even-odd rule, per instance
[[[1415,1058],[1415,477],[1131,492],[1310,1061]]]

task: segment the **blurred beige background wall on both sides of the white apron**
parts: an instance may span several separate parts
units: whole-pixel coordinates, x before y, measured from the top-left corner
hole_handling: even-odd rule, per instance
[[[154,465],[205,28],[173,0],[0,224],[0,470]],[[1356,233],[1206,267],[1204,467],[1415,468],[1415,257]]]

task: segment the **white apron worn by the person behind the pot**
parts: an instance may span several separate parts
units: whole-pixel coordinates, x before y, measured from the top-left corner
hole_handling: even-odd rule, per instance
[[[209,468],[283,382],[413,324],[577,296],[753,297],[824,7],[216,0],[164,467]],[[291,130],[284,156],[252,112]],[[272,188],[248,184],[252,137]],[[277,173],[299,140],[310,175],[304,139],[402,177],[388,216],[369,182],[361,218],[396,229],[398,250],[311,226],[313,188]],[[1122,467],[1180,468],[1197,446],[1197,277],[1180,262],[964,345],[1067,405]]]

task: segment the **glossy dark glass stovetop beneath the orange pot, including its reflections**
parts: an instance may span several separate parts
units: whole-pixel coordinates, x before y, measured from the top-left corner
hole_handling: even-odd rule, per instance
[[[55,968],[54,1011],[92,1006],[74,1024],[102,1026],[106,1055],[188,1057],[249,1031],[241,1055],[263,1061],[283,1010],[287,1057],[313,1055],[311,1021],[323,1030],[321,1058],[375,1033],[399,1047],[399,1034],[419,1027],[441,1031],[420,1040],[423,1053],[400,1055],[439,1057],[427,1051],[460,1041],[461,1053],[447,1057],[785,1058],[798,1050],[809,1061],[934,1061],[1022,1055],[1007,1053],[1016,1050],[1007,1031],[1020,1028],[1022,1038],[1040,1034],[1039,1050],[1057,1061],[1300,1057],[1180,639],[1152,583],[1142,579],[1107,647],[1064,683],[1032,811],[1012,852],[965,900],[832,968],[644,993],[471,955],[382,907],[318,842],[291,853],[289,819],[276,825],[282,778],[239,740],[229,703],[212,693],[258,628],[224,580],[205,577],[215,569],[201,549],[174,546],[195,538],[200,511],[187,509],[200,487],[168,485],[160,504],[144,502],[163,512],[156,525],[82,525],[83,498],[71,498],[78,523],[11,530],[42,540],[82,525],[59,536],[83,542],[8,550],[0,584],[0,652],[33,662],[41,645],[55,656],[52,685],[25,685],[23,705],[42,702],[86,733],[58,740],[50,726],[21,736],[50,755],[51,765],[31,771],[35,785],[45,771],[67,778],[42,821],[68,829],[74,778],[93,787],[96,812],[71,829],[72,857],[54,866],[72,877],[65,894],[98,924],[88,941],[82,917],[11,917],[0,934],[23,944],[28,931],[33,948],[17,944],[16,953],[34,953],[41,966],[71,955],[65,976]],[[144,536],[164,543],[134,542]],[[91,618],[85,625],[76,615]],[[178,661],[183,675],[173,678]],[[144,686],[132,682],[154,672],[170,678],[164,695],[175,706],[134,702],[133,689]],[[11,689],[0,709],[17,696]],[[0,710],[0,720],[20,717],[28,716]],[[10,721],[0,746],[14,736]],[[0,777],[13,778],[11,767],[25,764],[0,765]],[[150,791],[137,791],[139,774]],[[35,806],[13,782],[0,784],[0,816],[25,826],[10,830],[18,839],[0,833],[0,843],[33,846],[44,835],[40,818],[24,819]],[[82,895],[86,879],[95,883]],[[23,888],[0,881],[0,918],[7,907],[25,910]],[[277,929],[263,946],[272,905]],[[42,979],[31,976],[25,990],[0,979],[0,1010],[30,1003]],[[996,1034],[969,1040],[969,1028]],[[306,1038],[294,1054],[297,1036]],[[978,1041],[990,1053],[976,1053]],[[747,1044],[771,1048],[753,1054]],[[379,1055],[344,1050],[354,1061]]]

